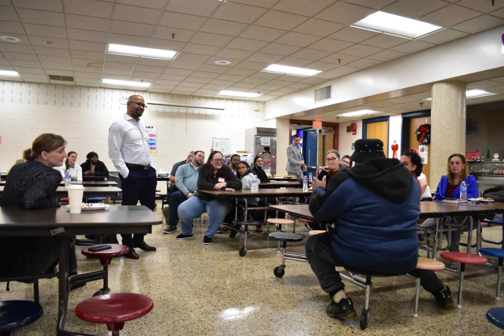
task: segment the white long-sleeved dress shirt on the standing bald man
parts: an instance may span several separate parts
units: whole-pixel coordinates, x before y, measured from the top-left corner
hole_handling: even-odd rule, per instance
[[[149,148],[149,132],[140,118],[137,121],[128,114],[124,114],[122,118],[110,125],[108,156],[115,169],[124,178],[130,175],[126,163],[154,167]]]

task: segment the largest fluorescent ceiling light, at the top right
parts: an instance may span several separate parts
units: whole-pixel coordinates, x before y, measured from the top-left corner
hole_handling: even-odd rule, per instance
[[[376,12],[351,25],[401,37],[417,38],[443,27],[385,12]]]

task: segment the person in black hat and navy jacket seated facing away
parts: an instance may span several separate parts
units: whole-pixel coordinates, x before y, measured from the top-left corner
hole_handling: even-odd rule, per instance
[[[306,257],[322,289],[331,297],[326,312],[340,319],[356,315],[335,266],[363,274],[420,278],[443,308],[454,306],[450,289],[432,271],[415,270],[418,261],[416,224],[420,214],[418,183],[398,159],[387,159],[379,139],[355,142],[352,168],[326,181],[313,180],[310,212],[335,229],[311,236]]]

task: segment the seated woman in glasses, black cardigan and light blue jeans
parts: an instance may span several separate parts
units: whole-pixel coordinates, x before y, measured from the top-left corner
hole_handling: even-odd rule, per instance
[[[219,151],[213,151],[208,157],[207,163],[198,169],[198,190],[225,190],[241,189],[241,181],[236,177],[233,171],[224,165],[223,155]],[[175,239],[194,239],[192,223],[193,219],[199,218],[204,212],[209,216],[207,232],[203,237],[203,244],[212,243],[219,226],[224,218],[232,210],[232,204],[229,200],[214,197],[203,192],[196,194],[185,200],[178,207],[178,217],[182,233]],[[231,231],[234,233],[234,231]]]

